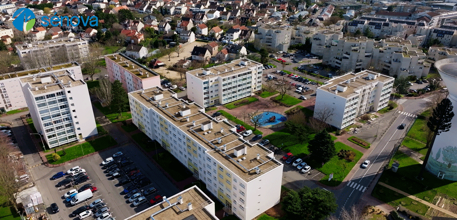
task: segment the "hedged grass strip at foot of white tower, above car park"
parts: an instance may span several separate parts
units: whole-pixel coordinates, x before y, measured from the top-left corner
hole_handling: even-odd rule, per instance
[[[116,145],[116,141],[111,137],[111,136],[105,136],[101,138],[97,138],[95,140],[91,140],[89,142],[82,143],[81,145],[75,145],[73,147],[69,147],[65,149],[65,152],[67,154],[63,155],[63,151],[59,150],[57,151],[57,154],[60,155],[60,160],[54,161],[52,159],[52,154],[46,155],[46,158],[48,159],[48,162],[50,164],[61,164],[63,162],[67,162],[76,158],[79,158],[80,156],[93,153],[99,150],[103,150],[105,148],[111,147]],[[82,148],[82,150],[81,150]]]

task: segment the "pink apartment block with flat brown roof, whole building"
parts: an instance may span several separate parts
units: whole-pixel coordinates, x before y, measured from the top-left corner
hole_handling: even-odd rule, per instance
[[[122,53],[105,55],[105,61],[110,81],[119,80],[127,92],[160,86],[158,73]]]

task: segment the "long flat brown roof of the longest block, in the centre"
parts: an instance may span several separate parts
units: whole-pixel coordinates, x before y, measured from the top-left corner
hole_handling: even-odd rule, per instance
[[[235,123],[226,121],[221,116],[213,118],[207,115],[205,109],[199,105],[177,99],[173,91],[155,87],[129,94],[143,105],[154,108],[162,117],[168,118],[181,131],[205,147],[217,161],[245,181],[280,165],[273,158],[273,152],[257,144],[251,145],[237,134]],[[157,95],[163,98],[154,100]],[[182,116],[180,112],[186,110],[190,112]],[[235,150],[242,150],[243,155],[235,156]],[[260,173],[257,174],[254,168],[259,168]]]

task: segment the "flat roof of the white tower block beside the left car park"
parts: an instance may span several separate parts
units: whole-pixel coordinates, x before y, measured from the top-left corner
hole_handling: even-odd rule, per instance
[[[20,79],[22,83],[29,83],[30,90],[35,95],[41,93],[60,90],[66,87],[78,86],[85,84],[82,80],[75,80],[68,71],[59,71],[48,74],[37,74]]]

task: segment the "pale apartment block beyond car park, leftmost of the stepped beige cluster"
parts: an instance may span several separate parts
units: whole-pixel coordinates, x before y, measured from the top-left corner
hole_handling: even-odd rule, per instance
[[[254,46],[257,50],[262,48],[274,51],[287,51],[290,45],[292,28],[286,25],[265,24],[258,27],[254,36]]]

